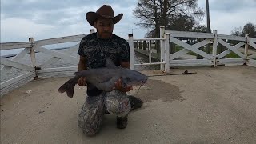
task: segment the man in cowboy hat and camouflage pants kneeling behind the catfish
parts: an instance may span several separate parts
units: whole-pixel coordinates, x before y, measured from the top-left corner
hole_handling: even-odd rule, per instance
[[[104,67],[106,58],[111,58],[116,66],[130,68],[129,43],[113,34],[114,24],[122,19],[122,15],[114,16],[111,6],[106,5],[96,13],[86,14],[90,26],[94,26],[97,32],[86,35],[80,42],[78,71]],[[111,92],[98,90],[86,83],[86,78],[80,78],[78,85],[87,86],[88,96],[79,114],[78,126],[89,136],[98,133],[104,114],[117,115],[117,127],[126,128],[130,110],[141,107],[143,103],[139,98],[127,96],[126,92],[132,90],[132,87],[122,87],[120,79]]]

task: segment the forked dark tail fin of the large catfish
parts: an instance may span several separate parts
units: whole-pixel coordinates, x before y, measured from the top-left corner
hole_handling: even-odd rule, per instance
[[[74,95],[74,86],[78,83],[79,77],[74,77],[65,82],[59,89],[58,92],[64,93],[66,91],[66,95],[70,98],[73,98]]]

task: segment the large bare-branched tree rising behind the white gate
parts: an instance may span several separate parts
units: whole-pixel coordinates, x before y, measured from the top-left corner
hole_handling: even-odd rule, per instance
[[[138,0],[134,10],[134,16],[141,20],[137,24],[155,30],[155,38],[159,37],[160,26],[174,26],[175,21],[185,18],[194,22],[194,18],[199,20],[203,15],[198,0]]]

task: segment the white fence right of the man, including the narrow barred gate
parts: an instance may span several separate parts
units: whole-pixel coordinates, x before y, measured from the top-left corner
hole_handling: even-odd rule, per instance
[[[200,42],[196,42],[192,45],[186,43],[184,38],[197,38],[201,40]],[[183,39],[183,40],[182,40]],[[174,30],[165,30],[163,26],[160,28],[160,38],[145,38],[145,39],[133,39],[132,35],[129,37],[130,51],[134,51],[134,41],[146,41],[149,45],[144,50],[149,55],[149,63],[138,63],[133,64],[131,62],[131,67],[141,66],[141,65],[154,65],[160,64],[160,70],[168,72],[170,67],[175,66],[220,66],[220,65],[248,65],[248,66],[256,66],[256,38],[249,38],[248,35],[246,37],[238,37],[224,34],[217,34],[217,31],[214,30],[214,33],[198,33],[198,32],[184,32],[184,31],[174,31]],[[161,53],[160,62],[151,62],[151,54],[152,48],[150,46],[151,41],[160,41]],[[235,41],[237,44],[234,46],[229,43],[230,41]],[[145,43],[145,42],[144,42]],[[174,43],[182,47],[182,50],[178,50],[173,54],[170,54],[170,44]],[[210,45],[211,50],[210,54],[207,54],[204,50],[200,50],[199,48],[205,47],[206,45]],[[220,53],[220,47],[226,49]],[[251,46],[251,50],[253,54],[248,53],[248,46]],[[193,52],[194,55],[202,56],[202,59],[191,58],[191,55],[188,53]],[[226,57],[228,54],[233,53],[237,55],[239,58],[228,58]],[[133,53],[131,53],[133,54]],[[189,58],[187,58],[189,56]],[[134,57],[130,57],[134,58]]]

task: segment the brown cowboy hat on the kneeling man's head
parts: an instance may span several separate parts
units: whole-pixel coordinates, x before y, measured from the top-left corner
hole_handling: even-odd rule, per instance
[[[86,19],[90,23],[90,26],[94,26],[94,21],[100,17],[111,18],[114,24],[116,24],[122,19],[122,15],[123,14],[121,13],[114,17],[114,11],[112,7],[108,5],[103,5],[96,11],[96,13],[92,11],[88,12],[86,14]]]

